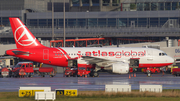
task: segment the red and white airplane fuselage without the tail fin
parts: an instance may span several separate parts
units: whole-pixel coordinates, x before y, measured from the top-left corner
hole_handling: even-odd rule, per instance
[[[172,58],[167,55],[160,55],[164,52],[151,48],[30,48],[30,49],[13,49],[11,51],[23,51],[28,54],[14,55],[23,59],[41,62],[44,64],[67,67],[68,59],[77,58],[79,64],[88,64],[82,56],[97,57],[111,61],[123,61],[129,63],[130,59],[139,58],[139,68],[144,67],[162,67],[172,64]]]

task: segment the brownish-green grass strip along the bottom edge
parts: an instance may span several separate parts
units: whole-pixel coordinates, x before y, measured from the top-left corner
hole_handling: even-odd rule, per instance
[[[179,101],[180,90],[163,90],[162,93],[78,91],[77,97],[56,96],[56,101]],[[34,97],[18,97],[18,92],[0,92],[0,101],[34,101]]]

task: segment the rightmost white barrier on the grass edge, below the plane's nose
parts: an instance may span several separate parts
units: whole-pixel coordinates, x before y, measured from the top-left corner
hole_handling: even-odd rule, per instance
[[[161,93],[162,92],[162,85],[140,85],[139,91],[140,92],[148,91],[148,92]]]

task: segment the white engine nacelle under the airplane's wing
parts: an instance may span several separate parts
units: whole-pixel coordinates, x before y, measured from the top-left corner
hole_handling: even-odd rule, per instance
[[[112,72],[118,74],[127,74],[129,72],[128,63],[114,63],[112,65]]]

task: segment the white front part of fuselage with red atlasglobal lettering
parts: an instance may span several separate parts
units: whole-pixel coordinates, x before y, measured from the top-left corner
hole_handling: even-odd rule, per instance
[[[71,58],[78,57],[79,64],[87,64],[81,56],[91,56],[110,61],[129,63],[130,58],[139,58],[140,67],[159,67],[161,64],[173,63],[173,58],[167,56],[163,51],[152,48],[62,48]],[[163,54],[163,55],[162,55]],[[157,65],[157,66],[156,66]]]

